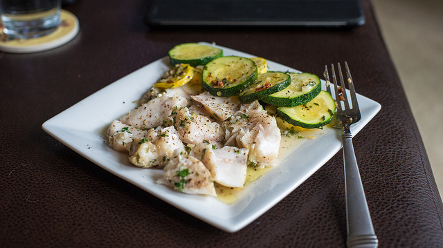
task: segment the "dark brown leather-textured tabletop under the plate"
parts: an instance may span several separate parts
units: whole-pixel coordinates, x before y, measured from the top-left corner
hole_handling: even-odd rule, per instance
[[[143,0],[78,1],[80,34],[60,48],[0,53],[0,247],[344,247],[343,159],[236,233],[183,213],[89,162],[42,130],[58,113],[176,44],[215,42],[322,75],[347,61],[382,106],[354,137],[380,247],[443,247],[443,211],[410,106],[363,0],[354,29],[148,30]]]

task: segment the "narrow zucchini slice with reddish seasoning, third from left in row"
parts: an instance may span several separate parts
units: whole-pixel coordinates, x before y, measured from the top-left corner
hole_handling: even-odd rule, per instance
[[[269,71],[267,73],[259,74],[257,81],[246,88],[238,96],[243,103],[260,100],[268,95],[283,90],[291,84],[291,76],[287,73],[278,71]]]

